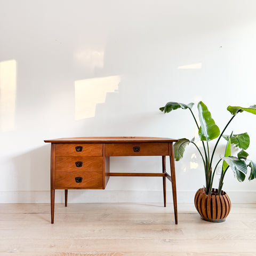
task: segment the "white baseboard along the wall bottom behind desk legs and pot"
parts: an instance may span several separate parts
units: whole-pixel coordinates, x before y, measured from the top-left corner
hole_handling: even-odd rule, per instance
[[[194,203],[196,191],[178,191],[178,203]],[[256,191],[227,191],[232,203],[256,203]],[[172,191],[167,191],[172,203]],[[55,203],[64,202],[64,190],[55,190]],[[163,191],[68,190],[69,203],[162,203]],[[0,191],[0,203],[50,203],[50,191]]]

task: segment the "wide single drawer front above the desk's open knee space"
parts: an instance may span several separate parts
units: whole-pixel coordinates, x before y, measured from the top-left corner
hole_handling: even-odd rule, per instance
[[[167,156],[168,142],[106,143],[106,156]]]

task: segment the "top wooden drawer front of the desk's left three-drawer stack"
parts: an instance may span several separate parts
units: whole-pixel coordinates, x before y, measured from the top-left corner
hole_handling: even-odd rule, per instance
[[[56,156],[102,156],[102,143],[56,143]]]

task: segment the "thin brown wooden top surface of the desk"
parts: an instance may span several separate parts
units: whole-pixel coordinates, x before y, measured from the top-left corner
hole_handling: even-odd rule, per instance
[[[51,143],[122,143],[122,142],[175,142],[177,139],[157,137],[78,137],[44,140]]]

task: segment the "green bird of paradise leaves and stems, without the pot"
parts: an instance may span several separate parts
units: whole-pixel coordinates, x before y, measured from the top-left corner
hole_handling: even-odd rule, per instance
[[[194,103],[189,103],[186,105],[178,102],[168,102],[164,107],[159,108],[164,113],[169,113],[172,110],[179,109],[179,108],[189,109],[196,123],[199,138],[202,141],[203,151],[199,149],[199,147],[194,142],[194,139],[188,140],[186,138],[182,138],[178,142],[175,142],[173,147],[175,161],[179,161],[183,157],[183,154],[185,152],[185,147],[189,143],[192,143],[196,147],[196,149],[199,151],[200,156],[202,157],[203,164],[204,164],[205,181],[206,181],[205,193],[207,195],[211,194],[214,174],[217,170],[217,166],[220,164],[221,161],[222,161],[222,169],[221,169],[221,175],[219,180],[218,195],[221,194],[223,179],[229,168],[233,171],[238,181],[242,182],[245,180],[245,177],[247,174],[247,168],[250,168],[251,170],[249,180],[253,180],[254,178],[256,178],[256,162],[250,159],[247,159],[247,156],[249,154],[247,154],[246,151],[244,151],[250,145],[249,135],[246,132],[241,134],[233,134],[233,132],[230,135],[224,134],[228,125],[236,117],[238,113],[242,113],[243,111],[246,111],[256,115],[256,105],[250,106],[249,108],[228,106],[227,110],[231,113],[232,117],[230,118],[230,120],[228,121],[227,125],[224,127],[222,132],[220,132],[220,129],[215,124],[210,111],[202,101],[198,102],[198,105],[197,105],[198,117],[200,122],[200,125],[199,125],[192,111],[193,106],[194,106]],[[224,155],[220,156],[220,159],[217,162],[217,164],[213,166],[213,156],[221,138],[224,138],[225,140],[227,140],[226,150],[224,152]],[[215,143],[213,150],[210,153],[209,142],[214,139],[217,139],[217,142]],[[241,149],[241,151],[239,151],[237,156],[231,155],[231,144],[234,144],[236,147]]]

